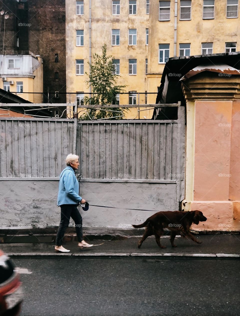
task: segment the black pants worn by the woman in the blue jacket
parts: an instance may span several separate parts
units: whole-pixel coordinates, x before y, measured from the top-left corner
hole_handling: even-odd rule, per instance
[[[56,246],[61,246],[66,229],[68,228],[70,217],[75,222],[77,240],[83,240],[82,216],[77,209],[77,204],[63,204],[61,207],[61,220],[56,236]]]

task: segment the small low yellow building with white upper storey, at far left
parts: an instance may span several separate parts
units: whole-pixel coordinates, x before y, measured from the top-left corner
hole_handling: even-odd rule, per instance
[[[43,102],[41,56],[29,51],[4,51],[0,54],[0,74],[1,89],[33,103]]]

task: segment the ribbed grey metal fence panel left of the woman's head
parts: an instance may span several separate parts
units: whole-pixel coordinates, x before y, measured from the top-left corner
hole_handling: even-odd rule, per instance
[[[59,177],[74,153],[74,120],[0,119],[0,177]]]

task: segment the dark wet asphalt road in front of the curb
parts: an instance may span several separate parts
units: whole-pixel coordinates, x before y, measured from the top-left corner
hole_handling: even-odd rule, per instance
[[[239,316],[239,259],[14,258],[20,316]]]

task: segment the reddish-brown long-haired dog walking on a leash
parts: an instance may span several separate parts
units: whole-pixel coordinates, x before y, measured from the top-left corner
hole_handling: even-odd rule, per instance
[[[146,227],[143,237],[138,244],[138,248],[140,248],[144,240],[151,235],[155,235],[157,245],[160,248],[166,248],[160,243],[160,237],[164,234],[164,228],[168,228],[171,231],[170,242],[173,247],[176,247],[174,239],[177,233],[180,233],[183,237],[190,237],[191,240],[197,244],[201,244],[202,241],[197,241],[191,234],[190,227],[192,223],[198,225],[199,222],[205,222],[206,220],[207,217],[203,216],[203,213],[198,210],[190,212],[166,211],[158,212],[148,217],[144,223],[132,226],[134,228]]]

